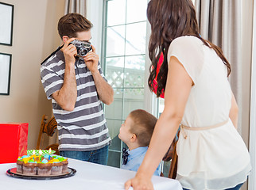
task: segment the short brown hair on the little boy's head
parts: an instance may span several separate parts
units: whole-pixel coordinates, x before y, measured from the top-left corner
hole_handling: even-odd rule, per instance
[[[140,146],[149,146],[157,118],[142,109],[136,109],[130,112],[129,116],[132,120],[130,132],[137,136]]]

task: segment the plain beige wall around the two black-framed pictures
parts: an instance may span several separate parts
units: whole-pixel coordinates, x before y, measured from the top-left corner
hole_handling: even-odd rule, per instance
[[[28,148],[37,145],[43,114],[51,115],[51,102],[41,85],[40,63],[60,45],[57,21],[64,0],[3,0],[14,5],[13,46],[0,52],[13,55],[10,96],[0,96],[0,123],[29,123]]]

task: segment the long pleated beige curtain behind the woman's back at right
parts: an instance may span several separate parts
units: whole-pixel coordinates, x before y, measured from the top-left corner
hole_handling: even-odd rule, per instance
[[[196,0],[196,17],[200,34],[223,50],[231,63],[229,78],[232,91],[242,108],[242,1],[241,0]],[[242,127],[242,112],[239,112],[239,132]]]

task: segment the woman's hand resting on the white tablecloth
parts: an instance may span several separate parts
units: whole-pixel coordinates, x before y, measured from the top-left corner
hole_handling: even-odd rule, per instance
[[[139,173],[133,179],[127,180],[125,183],[125,189],[128,190],[130,187],[133,187],[134,190],[153,190],[153,184],[151,179],[144,177]]]

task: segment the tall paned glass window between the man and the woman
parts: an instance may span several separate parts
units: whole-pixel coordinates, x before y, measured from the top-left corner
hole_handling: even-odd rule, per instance
[[[103,9],[103,66],[114,89],[114,102],[105,106],[112,144],[108,165],[120,167],[119,128],[126,116],[144,108],[147,0],[105,0]]]

